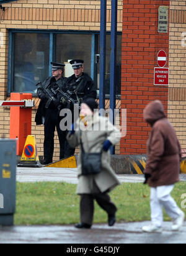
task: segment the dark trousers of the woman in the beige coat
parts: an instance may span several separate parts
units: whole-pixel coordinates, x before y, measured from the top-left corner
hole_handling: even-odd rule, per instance
[[[112,203],[107,193],[81,194],[80,213],[82,223],[92,225],[94,217],[94,199],[108,215],[113,215],[117,212],[115,204]]]

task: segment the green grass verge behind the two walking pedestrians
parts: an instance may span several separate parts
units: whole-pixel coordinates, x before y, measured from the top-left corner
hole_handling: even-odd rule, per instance
[[[186,182],[175,185],[172,196],[181,208]],[[150,220],[150,189],[141,183],[123,183],[110,193],[117,205],[117,221]],[[186,206],[186,205],[185,205]],[[182,209],[185,211],[186,209]],[[74,224],[79,222],[79,196],[69,183],[17,183],[15,225]],[[170,220],[165,214],[164,220]],[[95,203],[94,223],[107,222],[107,214]]]

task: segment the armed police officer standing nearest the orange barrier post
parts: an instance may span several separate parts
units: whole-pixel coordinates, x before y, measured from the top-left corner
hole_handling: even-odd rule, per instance
[[[67,78],[63,77],[65,65],[51,62],[51,66],[52,76],[43,83],[37,84],[37,95],[41,101],[35,122],[37,125],[45,126],[43,165],[47,165],[53,160],[55,127],[60,141],[60,159],[64,158],[64,142],[66,140],[66,132],[60,129],[60,110],[65,106],[61,103],[61,95],[58,93],[58,89],[63,90],[67,82]]]

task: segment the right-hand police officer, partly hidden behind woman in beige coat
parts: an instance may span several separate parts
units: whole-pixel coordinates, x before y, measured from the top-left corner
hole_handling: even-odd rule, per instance
[[[84,60],[71,60],[70,63],[74,70],[74,75],[68,78],[66,91],[70,94],[71,98],[73,98],[79,105],[87,98],[96,99],[97,88],[92,78],[84,73]],[[70,109],[72,114],[74,114],[73,104],[71,104]],[[73,122],[74,121],[75,120],[73,120]],[[75,149],[71,148],[66,141],[64,151],[65,157],[70,157],[71,155],[74,155]]]

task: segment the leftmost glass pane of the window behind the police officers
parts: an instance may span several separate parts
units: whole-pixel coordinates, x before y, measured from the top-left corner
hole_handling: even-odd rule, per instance
[[[48,76],[49,50],[49,34],[14,34],[12,91],[35,93],[35,84]]]

